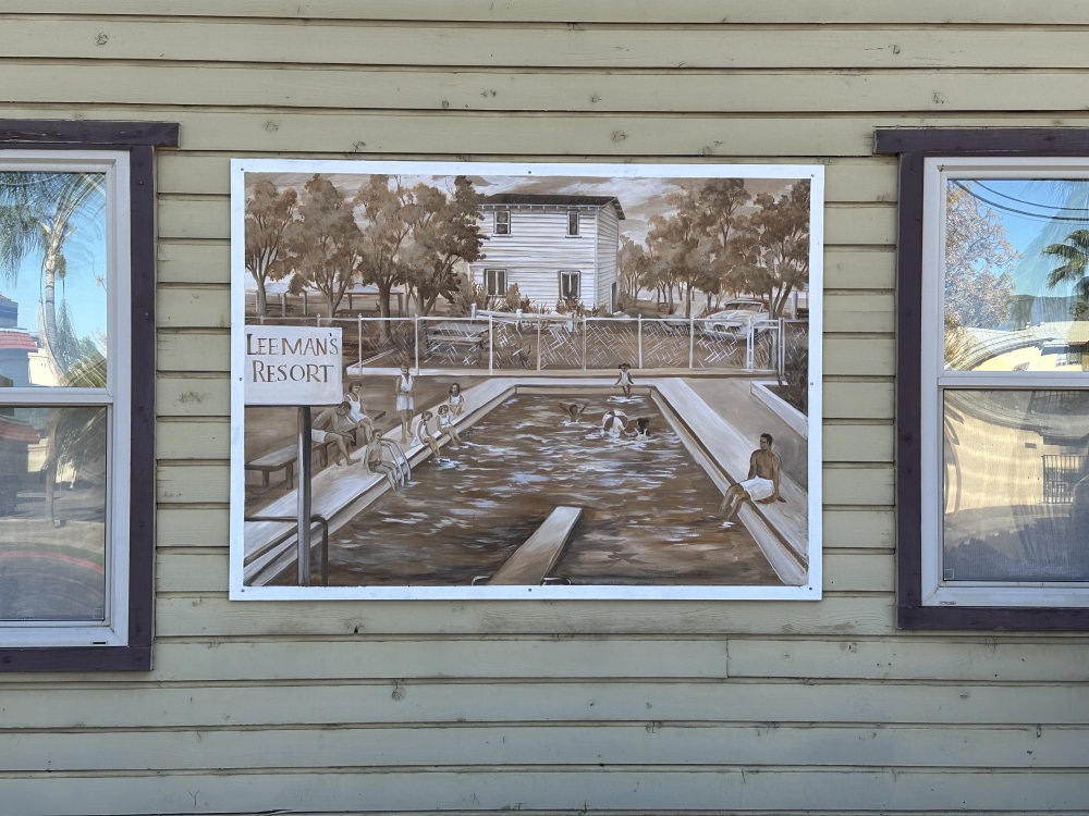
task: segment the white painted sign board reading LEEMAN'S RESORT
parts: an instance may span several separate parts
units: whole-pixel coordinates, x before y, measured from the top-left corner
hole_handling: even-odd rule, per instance
[[[246,326],[246,405],[337,405],[342,366],[340,329]]]

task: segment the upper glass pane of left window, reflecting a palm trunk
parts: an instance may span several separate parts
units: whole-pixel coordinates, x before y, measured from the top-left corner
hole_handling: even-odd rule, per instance
[[[107,232],[103,173],[0,170],[0,386],[88,384],[106,355]]]

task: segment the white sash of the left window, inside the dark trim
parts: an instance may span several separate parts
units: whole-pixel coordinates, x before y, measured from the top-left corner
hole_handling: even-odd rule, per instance
[[[123,646],[130,638],[129,462],[132,457],[132,202],[125,150],[2,149],[0,169],[103,173],[106,176],[107,387],[0,388],[0,405],[105,406],[107,413],[106,605],[101,622],[0,620],[2,647]]]

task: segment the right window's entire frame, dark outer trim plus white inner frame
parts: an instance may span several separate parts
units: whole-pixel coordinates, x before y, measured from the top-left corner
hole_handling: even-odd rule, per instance
[[[927,292],[929,281],[925,280],[923,270],[933,267],[933,254],[940,251],[940,247],[927,242],[935,234],[944,200],[939,195],[942,189],[933,187],[933,174],[928,173],[928,166],[937,166],[935,160],[966,166],[972,159],[1020,159],[1025,164],[1054,162],[1060,165],[1064,159],[1089,158],[1089,131],[910,128],[878,131],[876,136],[876,152],[900,156],[895,397],[897,626],[925,630],[1089,629],[1089,608],[1045,605],[1047,592],[1039,593],[1030,602],[1035,605],[1015,605],[1010,599],[1001,599],[1004,594],[1008,596],[1012,582],[993,582],[983,591],[965,593],[962,590],[953,596],[943,597],[941,593],[928,596],[940,542],[928,540],[927,526],[931,526],[932,533],[934,510],[930,507],[932,502],[929,505],[923,502],[923,496],[934,495],[928,491],[933,490],[938,477],[937,473],[928,475],[928,469],[933,466],[937,441],[932,437],[937,431],[933,418],[927,413],[927,400],[928,395],[941,394],[938,378],[931,375],[932,360],[929,360],[937,354],[938,342],[925,333],[926,316],[933,311],[935,295]],[[928,178],[931,180],[929,184]],[[987,384],[989,380],[979,378],[979,382],[980,387],[992,387]],[[1024,382],[1016,387],[1048,385],[1033,380],[1031,384]]]

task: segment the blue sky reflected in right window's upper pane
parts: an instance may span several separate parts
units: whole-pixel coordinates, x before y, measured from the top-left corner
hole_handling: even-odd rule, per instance
[[[1089,228],[1089,181],[984,178],[960,182],[1005,230],[1020,256],[1013,269],[1017,294],[1065,296],[1073,284],[1051,289],[1048,273],[1061,265],[1041,255],[1050,244],[1064,243],[1075,230]]]

